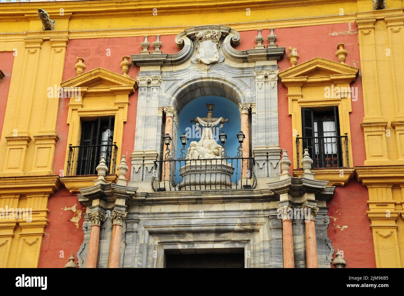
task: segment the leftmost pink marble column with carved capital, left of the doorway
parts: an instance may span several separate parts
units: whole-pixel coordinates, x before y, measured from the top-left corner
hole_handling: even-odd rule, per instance
[[[105,221],[106,215],[97,211],[88,213],[87,217],[91,222],[91,231],[90,241],[88,242],[86,268],[97,268],[100,227],[101,223]]]

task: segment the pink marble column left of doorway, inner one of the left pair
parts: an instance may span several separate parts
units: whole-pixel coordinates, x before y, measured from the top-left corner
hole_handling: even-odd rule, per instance
[[[118,268],[121,256],[121,236],[122,224],[126,218],[127,212],[113,211],[111,213],[112,235],[111,245],[109,247],[108,268]]]

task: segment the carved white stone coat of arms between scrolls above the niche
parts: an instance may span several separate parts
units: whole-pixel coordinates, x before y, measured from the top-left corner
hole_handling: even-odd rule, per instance
[[[222,34],[217,30],[203,30],[195,33],[198,51],[195,60],[206,65],[216,63],[220,59],[219,40]]]

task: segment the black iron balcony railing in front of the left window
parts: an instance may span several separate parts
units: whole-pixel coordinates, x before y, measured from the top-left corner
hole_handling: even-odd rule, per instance
[[[107,174],[114,174],[117,151],[118,146],[116,144],[88,146],[69,144],[66,176],[96,175],[97,170],[95,168],[99,165],[101,156],[105,157],[105,165],[108,167]]]

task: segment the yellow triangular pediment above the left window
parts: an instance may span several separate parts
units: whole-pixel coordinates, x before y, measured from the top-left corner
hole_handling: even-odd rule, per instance
[[[109,88],[111,86],[135,87],[136,80],[103,68],[96,68],[82,73],[61,83],[66,87]]]

